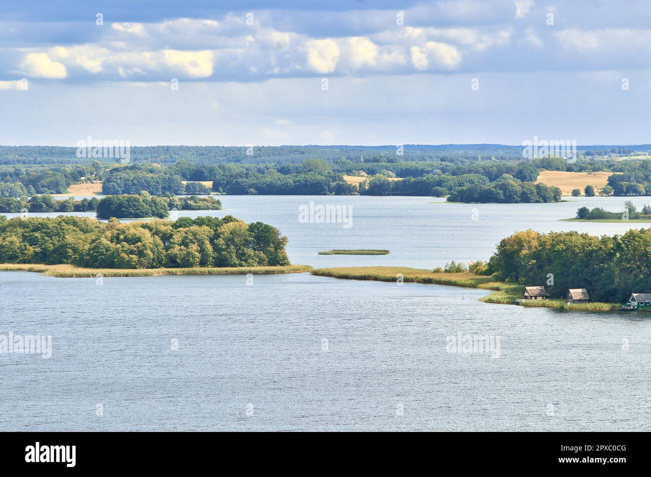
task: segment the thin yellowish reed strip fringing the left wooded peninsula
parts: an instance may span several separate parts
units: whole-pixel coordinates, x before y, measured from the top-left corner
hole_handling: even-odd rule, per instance
[[[272,275],[274,273],[301,273],[310,271],[307,265],[284,267],[195,267],[195,268],[81,268],[74,265],[0,264],[0,271],[36,271],[48,277],[100,278],[100,277],[155,277],[157,275]]]

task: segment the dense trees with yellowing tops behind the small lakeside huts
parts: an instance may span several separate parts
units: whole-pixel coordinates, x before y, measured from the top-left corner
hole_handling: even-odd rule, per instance
[[[650,292],[649,250],[651,229],[601,237],[526,230],[499,243],[488,273],[526,286],[544,285],[551,297],[564,297],[568,288],[587,288],[594,301],[623,302],[631,292]]]

